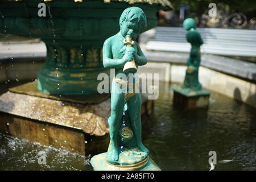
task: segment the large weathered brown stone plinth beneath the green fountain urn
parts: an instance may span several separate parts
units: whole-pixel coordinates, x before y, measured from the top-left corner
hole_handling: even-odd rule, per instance
[[[110,94],[51,95],[36,85],[15,86],[0,95],[1,133],[82,155],[108,150]],[[153,106],[142,97],[142,118],[154,112]]]

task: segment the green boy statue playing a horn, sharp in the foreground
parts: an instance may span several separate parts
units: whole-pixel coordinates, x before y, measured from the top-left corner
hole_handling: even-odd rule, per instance
[[[117,165],[122,162],[137,163],[146,159],[148,155],[141,138],[141,94],[115,92],[129,84],[126,80],[117,77],[119,73],[125,75],[135,73],[138,66],[147,63],[139,44],[135,42],[147,26],[146,15],[138,7],[129,7],[123,11],[119,25],[120,31],[105,41],[102,52],[104,67],[115,69],[111,116],[108,119],[110,144],[105,160]],[[125,113],[123,113],[124,108]]]

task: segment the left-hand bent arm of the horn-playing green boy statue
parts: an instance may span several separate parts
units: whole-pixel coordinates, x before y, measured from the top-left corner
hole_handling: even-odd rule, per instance
[[[127,61],[133,60],[133,55],[130,52],[126,52],[121,59],[113,59],[112,46],[108,40],[103,45],[102,56],[105,68],[122,69]]]

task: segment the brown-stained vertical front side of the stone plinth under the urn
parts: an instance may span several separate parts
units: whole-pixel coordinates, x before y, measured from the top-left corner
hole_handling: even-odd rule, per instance
[[[61,148],[81,155],[90,154],[91,140],[81,129],[61,127],[51,123],[33,121],[16,115],[0,113],[0,132],[12,137],[26,138],[30,142],[39,142],[45,146]],[[105,136],[104,136],[105,137]],[[101,138],[102,151],[107,147]],[[93,140],[97,145],[97,141]],[[105,146],[104,146],[105,144]],[[99,149],[98,149],[99,150]]]

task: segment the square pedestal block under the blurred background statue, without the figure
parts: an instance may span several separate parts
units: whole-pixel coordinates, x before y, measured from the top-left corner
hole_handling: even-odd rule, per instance
[[[203,88],[194,90],[176,86],[174,90],[174,106],[184,109],[207,108],[209,106],[210,92]]]

